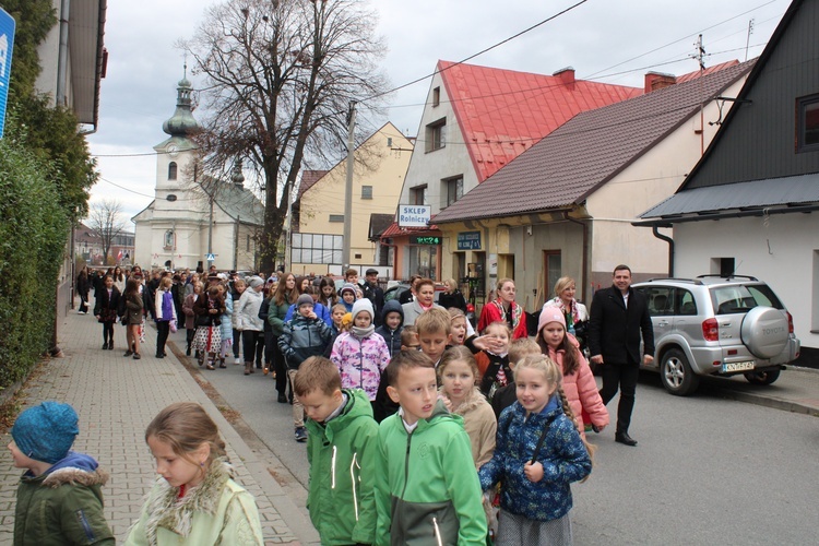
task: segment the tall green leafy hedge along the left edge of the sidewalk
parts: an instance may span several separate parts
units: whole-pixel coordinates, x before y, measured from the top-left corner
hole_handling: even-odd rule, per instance
[[[0,390],[50,347],[69,221],[51,166],[7,126],[0,140]]]

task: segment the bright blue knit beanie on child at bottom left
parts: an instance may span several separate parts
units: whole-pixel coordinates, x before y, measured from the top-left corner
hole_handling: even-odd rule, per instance
[[[17,416],[11,436],[24,455],[54,464],[66,458],[80,434],[78,420],[69,404],[43,402]]]

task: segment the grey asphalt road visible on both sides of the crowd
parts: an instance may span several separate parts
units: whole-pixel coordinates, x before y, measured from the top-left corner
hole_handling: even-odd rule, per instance
[[[276,477],[298,503],[305,444],[293,438],[292,406],[275,401],[273,379],[246,377],[241,366],[203,377],[292,474],[280,467]],[[644,372],[630,430],[639,446],[615,443],[614,425],[590,435],[594,472],[572,486],[575,544],[817,543],[819,419],[703,391],[672,396]]]

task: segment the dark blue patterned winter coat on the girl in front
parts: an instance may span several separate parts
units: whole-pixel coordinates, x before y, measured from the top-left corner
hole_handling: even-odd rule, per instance
[[[543,447],[534,453],[541,434],[548,426]],[[535,459],[543,465],[543,478],[530,482],[523,466]],[[500,508],[527,520],[551,521],[571,510],[569,484],[592,472],[592,461],[574,424],[563,414],[559,396],[553,396],[538,414],[526,415],[515,402],[503,410],[491,461],[478,471],[480,487],[498,482]]]

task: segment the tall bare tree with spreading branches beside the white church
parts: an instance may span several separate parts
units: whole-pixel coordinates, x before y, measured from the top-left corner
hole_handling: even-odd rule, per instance
[[[302,163],[335,163],[352,102],[383,97],[385,46],[364,0],[240,0],[207,9],[180,44],[206,76],[197,135],[203,166],[227,178],[246,157],[264,194],[261,268],[272,270]],[[377,108],[378,98],[368,102]]]

